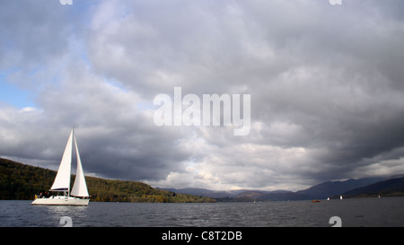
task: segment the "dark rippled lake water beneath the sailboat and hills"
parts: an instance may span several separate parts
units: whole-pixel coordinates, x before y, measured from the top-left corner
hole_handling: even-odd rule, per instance
[[[404,197],[321,201],[216,204],[98,203],[89,206],[31,206],[31,201],[0,201],[0,226],[74,227],[330,227],[404,226]],[[66,224],[66,223],[63,223]]]

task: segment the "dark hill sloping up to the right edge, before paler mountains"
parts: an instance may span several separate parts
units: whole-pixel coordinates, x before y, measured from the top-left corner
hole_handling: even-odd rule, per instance
[[[362,188],[355,188],[344,193],[346,197],[397,197],[404,196],[404,177],[386,179]]]

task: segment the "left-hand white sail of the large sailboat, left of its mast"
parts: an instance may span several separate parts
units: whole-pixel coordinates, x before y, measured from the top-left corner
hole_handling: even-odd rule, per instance
[[[65,153],[63,153],[62,161],[60,162],[57,176],[50,190],[66,191],[70,188],[70,169],[72,165],[72,138],[73,130],[67,140]]]

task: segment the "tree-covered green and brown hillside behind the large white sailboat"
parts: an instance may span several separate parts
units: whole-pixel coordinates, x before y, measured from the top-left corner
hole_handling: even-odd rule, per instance
[[[0,158],[0,199],[30,200],[48,190],[56,171]],[[85,177],[92,201],[106,202],[215,202],[210,197],[178,194],[136,181]],[[72,182],[74,175],[72,175]]]

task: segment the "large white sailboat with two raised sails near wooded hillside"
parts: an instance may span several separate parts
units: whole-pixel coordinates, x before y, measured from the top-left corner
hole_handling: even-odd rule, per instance
[[[57,176],[53,182],[50,191],[57,192],[56,196],[40,197],[35,195],[35,200],[31,205],[57,205],[57,206],[88,206],[90,195],[88,194],[87,184],[84,178],[82,161],[75,141],[75,130],[72,129],[67,140],[65,153],[63,153]],[[75,144],[75,153],[77,156],[77,169],[75,174],[75,183],[70,191],[70,171],[72,165],[73,144]],[[59,195],[63,193],[63,195]]]

